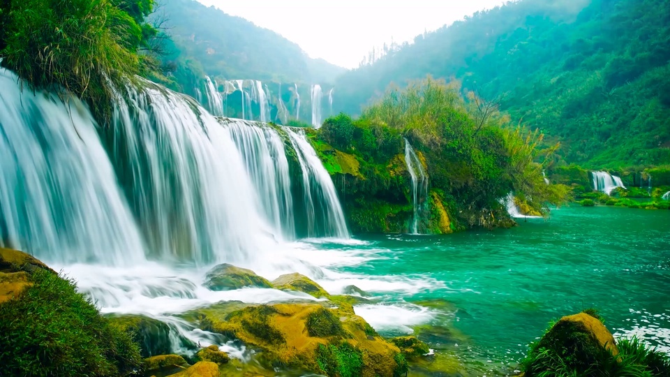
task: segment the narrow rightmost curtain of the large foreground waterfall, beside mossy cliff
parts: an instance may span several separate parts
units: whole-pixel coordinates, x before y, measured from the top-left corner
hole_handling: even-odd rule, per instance
[[[349,238],[333,181],[307,141],[304,130],[285,129],[302,170],[308,236],[325,234],[328,237]]]

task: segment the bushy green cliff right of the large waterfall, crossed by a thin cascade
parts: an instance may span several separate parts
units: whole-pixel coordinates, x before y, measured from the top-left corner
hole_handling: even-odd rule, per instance
[[[360,119],[327,119],[311,140],[334,175],[352,230],[407,230],[413,207],[403,138],[429,175],[424,231],[509,225],[500,200],[510,192],[535,212],[563,202],[568,188],[542,177],[556,147],[539,149],[542,135],[510,130],[500,114],[479,115],[458,87],[429,79],[390,89]]]

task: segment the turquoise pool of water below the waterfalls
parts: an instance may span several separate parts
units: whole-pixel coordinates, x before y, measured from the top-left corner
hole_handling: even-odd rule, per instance
[[[422,322],[449,330],[425,338],[459,355],[463,374],[510,373],[549,321],[590,307],[616,335],[638,334],[670,352],[669,211],[564,207],[510,230],[365,240],[348,247],[364,262],[338,272],[415,289],[382,288],[373,294],[383,304],[359,314],[392,335],[403,330],[393,313],[381,318],[385,305],[429,306]],[[411,315],[395,322],[403,320]]]

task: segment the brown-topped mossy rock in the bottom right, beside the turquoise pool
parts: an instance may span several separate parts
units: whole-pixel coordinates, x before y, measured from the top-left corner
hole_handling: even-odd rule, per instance
[[[602,364],[618,355],[614,337],[602,322],[589,313],[578,313],[560,318],[531,346],[526,365],[526,376],[546,371],[547,365],[560,363],[577,375],[586,374],[594,365]]]

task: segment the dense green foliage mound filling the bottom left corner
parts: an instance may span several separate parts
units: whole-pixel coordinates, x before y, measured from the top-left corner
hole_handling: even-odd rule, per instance
[[[37,269],[33,286],[0,304],[0,364],[11,376],[128,376],[140,370],[131,334],[100,316],[72,280]]]

